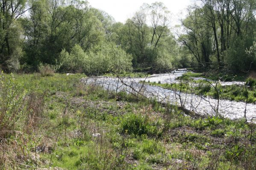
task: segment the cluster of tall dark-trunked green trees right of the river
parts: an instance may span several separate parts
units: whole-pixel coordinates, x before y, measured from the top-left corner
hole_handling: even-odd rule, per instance
[[[255,18],[251,15],[255,11],[251,6],[255,6],[255,2],[201,2],[202,6],[191,6],[182,21],[185,34],[178,40],[183,45],[183,53],[190,54],[197,62],[193,67],[228,68],[236,72],[255,69]],[[241,11],[243,15],[238,15]]]

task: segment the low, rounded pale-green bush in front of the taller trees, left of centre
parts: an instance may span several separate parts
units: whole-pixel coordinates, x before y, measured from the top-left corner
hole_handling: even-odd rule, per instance
[[[85,53],[79,45],[75,45],[71,52],[65,49],[59,55],[62,71],[85,72],[90,74],[106,73],[109,71],[130,71],[132,57],[121,48],[114,45],[95,47]]]

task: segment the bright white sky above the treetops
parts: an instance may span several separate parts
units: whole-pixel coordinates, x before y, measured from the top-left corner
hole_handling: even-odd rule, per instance
[[[164,3],[171,11],[171,27],[180,24],[179,19],[185,17],[186,8],[192,4],[192,0],[88,0],[89,5],[106,11],[116,22],[122,23],[131,18],[143,3],[156,1]]]

